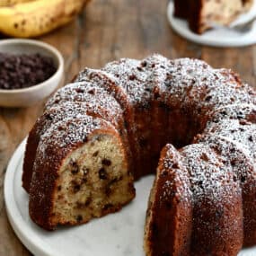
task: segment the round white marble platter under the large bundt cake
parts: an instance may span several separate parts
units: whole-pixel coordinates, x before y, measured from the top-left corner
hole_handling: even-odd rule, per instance
[[[28,195],[22,189],[22,161],[26,141],[16,149],[4,179],[7,215],[15,234],[36,256],[145,256],[143,234],[147,199],[154,176],[136,182],[137,197],[115,214],[86,225],[62,227],[54,232],[31,222]],[[256,247],[239,256],[256,255]]]

